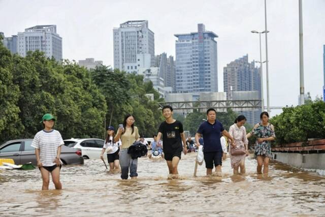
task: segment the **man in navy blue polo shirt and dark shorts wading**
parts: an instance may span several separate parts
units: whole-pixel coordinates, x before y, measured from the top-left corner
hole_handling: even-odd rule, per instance
[[[228,137],[232,141],[232,144],[235,142],[233,137],[223,129],[222,124],[216,120],[216,114],[217,112],[213,108],[207,110],[207,121],[200,125],[199,130],[195,135],[195,141],[197,145],[199,145],[199,138],[203,135],[203,153],[207,175],[212,174],[214,164],[216,175],[221,176],[221,159],[223,151],[220,142],[220,133],[222,133],[223,136]]]

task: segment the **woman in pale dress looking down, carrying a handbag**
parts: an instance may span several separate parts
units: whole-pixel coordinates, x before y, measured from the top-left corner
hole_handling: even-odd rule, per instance
[[[248,156],[248,139],[246,137],[246,128],[244,124],[246,117],[239,115],[235,123],[230,127],[229,134],[234,138],[235,145],[230,145],[230,160],[231,166],[234,169],[234,174],[238,174],[240,167],[240,173],[245,174],[245,158]]]

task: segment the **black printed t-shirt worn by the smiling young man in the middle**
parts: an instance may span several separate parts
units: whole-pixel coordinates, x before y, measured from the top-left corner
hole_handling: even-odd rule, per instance
[[[182,150],[181,133],[184,130],[180,121],[176,120],[174,123],[164,121],[160,124],[158,132],[163,134],[163,149],[165,153]]]

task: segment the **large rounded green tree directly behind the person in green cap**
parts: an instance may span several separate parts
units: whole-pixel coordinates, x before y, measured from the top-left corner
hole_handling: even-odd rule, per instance
[[[14,83],[20,87],[19,117],[25,127],[22,138],[32,138],[43,128],[44,113],[57,117],[55,129],[63,138],[99,137],[106,103],[84,68],[68,60],[59,64],[43,52],[14,56]]]

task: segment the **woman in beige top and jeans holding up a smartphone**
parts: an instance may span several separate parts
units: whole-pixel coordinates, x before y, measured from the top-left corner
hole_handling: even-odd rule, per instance
[[[127,153],[129,146],[140,138],[138,128],[134,126],[135,119],[131,114],[124,117],[122,125],[119,125],[114,142],[121,139],[122,145],[120,147],[119,159],[121,166],[121,178],[127,179],[128,172],[130,172],[131,179],[136,179],[138,176],[138,159],[132,159],[131,155]]]

